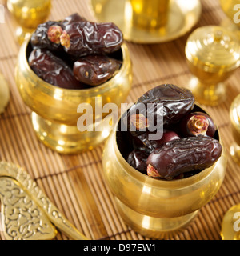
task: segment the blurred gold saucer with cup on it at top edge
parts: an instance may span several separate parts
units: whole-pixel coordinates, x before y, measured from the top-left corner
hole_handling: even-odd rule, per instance
[[[200,0],[90,0],[90,7],[98,22],[114,22],[125,40],[144,44],[181,37],[202,12]]]

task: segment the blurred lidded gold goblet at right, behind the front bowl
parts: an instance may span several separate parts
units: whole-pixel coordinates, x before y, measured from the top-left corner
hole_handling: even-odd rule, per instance
[[[190,90],[199,103],[218,105],[226,97],[223,83],[240,65],[238,38],[220,26],[202,26],[186,42],[186,59],[194,77]]]

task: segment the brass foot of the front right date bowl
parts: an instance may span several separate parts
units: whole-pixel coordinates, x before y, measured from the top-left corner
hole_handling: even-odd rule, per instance
[[[198,210],[193,213],[174,218],[154,218],[148,215],[139,214],[123,204],[118,198],[118,212],[128,226],[139,234],[148,238],[166,239],[178,234],[197,216]]]

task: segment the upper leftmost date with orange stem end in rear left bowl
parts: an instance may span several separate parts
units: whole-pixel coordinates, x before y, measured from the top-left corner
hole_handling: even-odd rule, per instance
[[[46,48],[49,50],[58,50],[60,45],[60,36],[64,26],[61,22],[48,21],[39,24],[30,38],[31,45],[34,49]]]

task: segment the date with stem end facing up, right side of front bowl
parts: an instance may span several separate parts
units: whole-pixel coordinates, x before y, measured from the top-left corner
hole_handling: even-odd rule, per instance
[[[180,130],[183,136],[207,135],[214,137],[216,126],[210,116],[203,112],[187,114],[180,122]]]

